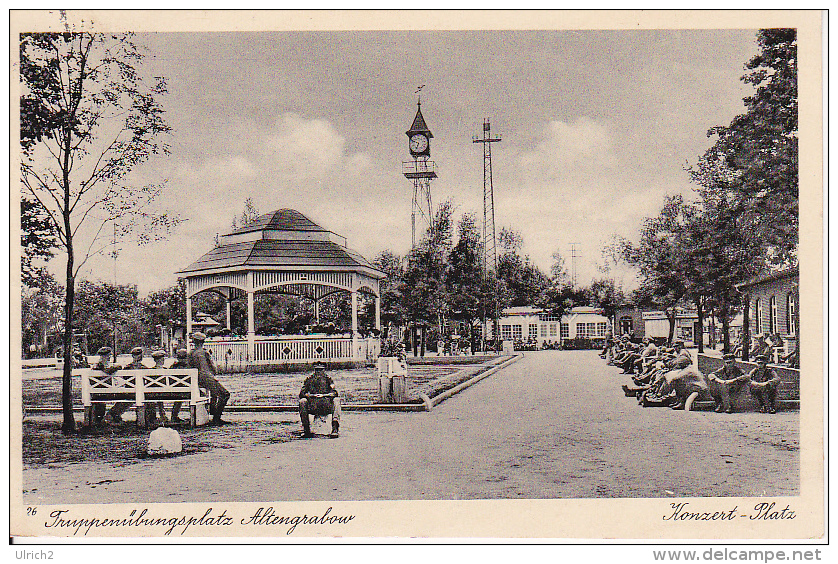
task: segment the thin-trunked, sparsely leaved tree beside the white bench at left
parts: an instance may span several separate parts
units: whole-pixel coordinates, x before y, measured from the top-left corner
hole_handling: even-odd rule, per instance
[[[26,33],[20,36],[21,181],[49,216],[66,252],[64,433],[75,431],[70,388],[76,276],[116,235],[144,244],[178,218],[150,211],[161,186],[136,186],[129,173],[168,153],[160,98],[166,83],[139,73],[143,54],[130,34]],[[114,227],[114,241],[110,240]],[[135,230],[136,229],[136,230]],[[107,241],[107,242],[106,242]]]

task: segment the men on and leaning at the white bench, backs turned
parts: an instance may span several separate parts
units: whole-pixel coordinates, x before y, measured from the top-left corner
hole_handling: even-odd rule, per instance
[[[224,421],[221,419],[221,414],[227,401],[230,399],[230,392],[221,385],[215,378],[217,369],[212,361],[212,356],[209,351],[204,348],[204,341],[206,335],[197,332],[192,335],[192,341],[195,344],[194,348],[187,352],[186,349],[178,349],[175,353],[175,362],[166,366],[166,353],[162,350],[157,350],[151,353],[154,359],[153,369],[166,368],[197,368],[198,369],[198,386],[209,391],[209,412],[212,415],[213,425],[222,425]],[[119,370],[142,370],[149,367],[143,363],[143,349],[142,347],[134,347],[131,350],[131,362],[126,366],[120,366],[111,362],[111,355],[113,350],[110,347],[102,347],[98,353],[99,361],[93,365],[93,370],[99,370],[106,374],[115,374]],[[165,425],[171,423],[181,423],[179,414],[182,402],[176,401],[172,406],[171,415],[166,416],[163,407],[163,402],[149,402],[144,406],[145,419],[149,425]],[[109,411],[107,416],[112,423],[122,423],[122,415],[131,407],[131,402],[121,401],[116,402]],[[96,425],[102,425],[105,421],[105,404],[97,403],[93,410],[93,422]]]

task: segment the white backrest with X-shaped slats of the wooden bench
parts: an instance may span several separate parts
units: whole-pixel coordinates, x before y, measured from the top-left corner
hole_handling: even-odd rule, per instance
[[[200,398],[197,368],[145,368],[119,370],[106,374],[92,368],[73,371],[81,377],[82,403],[90,405],[97,396],[121,395],[143,403],[146,394],[189,393],[191,401]]]

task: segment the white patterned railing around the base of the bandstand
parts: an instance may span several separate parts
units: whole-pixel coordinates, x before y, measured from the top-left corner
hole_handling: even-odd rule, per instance
[[[315,361],[347,362],[378,358],[381,344],[377,337],[358,338],[352,350],[349,336],[289,335],[256,337],[253,358],[248,355],[246,339],[212,338],[204,348],[212,352],[216,366],[225,371],[239,371],[252,365],[302,364]]]

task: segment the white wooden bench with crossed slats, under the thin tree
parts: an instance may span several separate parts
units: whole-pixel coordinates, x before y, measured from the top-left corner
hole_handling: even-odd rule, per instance
[[[145,404],[158,401],[189,403],[189,424],[197,425],[197,409],[209,401],[198,388],[197,368],[147,368],[144,370],[119,370],[105,374],[92,368],[73,371],[81,378],[81,399],[84,405],[84,423],[93,422],[93,404],[131,401],[137,413],[137,426],[146,427]]]

